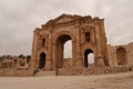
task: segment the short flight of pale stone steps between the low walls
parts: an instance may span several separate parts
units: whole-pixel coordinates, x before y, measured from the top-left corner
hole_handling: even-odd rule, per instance
[[[39,70],[34,77],[55,76],[55,71]]]

